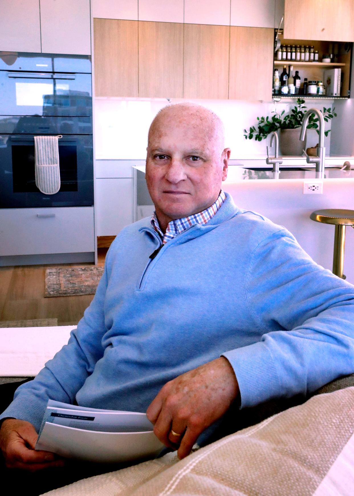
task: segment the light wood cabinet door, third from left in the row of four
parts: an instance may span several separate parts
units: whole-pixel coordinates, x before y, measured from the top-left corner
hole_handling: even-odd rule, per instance
[[[184,25],[184,98],[227,98],[230,26]]]

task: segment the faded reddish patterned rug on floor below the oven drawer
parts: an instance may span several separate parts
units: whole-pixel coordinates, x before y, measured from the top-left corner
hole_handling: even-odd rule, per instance
[[[94,295],[103,267],[49,267],[46,269],[45,298]]]

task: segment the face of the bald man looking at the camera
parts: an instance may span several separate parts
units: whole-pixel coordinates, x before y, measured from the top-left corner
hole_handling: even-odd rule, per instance
[[[230,149],[192,113],[162,116],[152,129],[146,181],[161,229],[209,207],[227,177]],[[209,131],[205,129],[209,129]]]

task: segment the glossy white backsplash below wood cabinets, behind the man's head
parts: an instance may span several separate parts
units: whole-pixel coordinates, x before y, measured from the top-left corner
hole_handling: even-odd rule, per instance
[[[244,129],[256,126],[257,117],[272,116],[272,112],[288,112],[293,103],[247,102],[239,100],[182,100],[199,103],[215,112],[225,124],[225,146],[231,148],[231,158],[264,156],[269,138],[262,141],[245,139]],[[323,109],[333,106],[333,100],[306,101],[307,109]],[[95,148],[96,159],[145,159],[149,126],[156,113],[165,105],[166,99],[153,98],[102,98],[95,99]],[[330,129],[331,122],[326,123]],[[310,131],[311,141],[316,144],[316,133]],[[330,136],[325,138],[326,154],[330,152]],[[313,142],[312,142],[313,141]]]

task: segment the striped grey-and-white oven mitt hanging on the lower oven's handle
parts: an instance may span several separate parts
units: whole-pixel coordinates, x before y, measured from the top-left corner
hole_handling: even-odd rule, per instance
[[[35,136],[35,180],[44,194],[60,189],[58,136]]]

